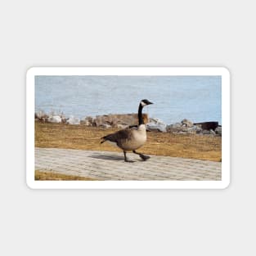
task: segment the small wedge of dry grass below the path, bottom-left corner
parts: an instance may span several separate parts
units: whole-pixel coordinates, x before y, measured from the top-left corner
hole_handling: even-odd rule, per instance
[[[67,175],[61,173],[54,172],[42,172],[36,170],[34,172],[34,180],[35,181],[94,181],[89,177],[80,177],[74,175]]]

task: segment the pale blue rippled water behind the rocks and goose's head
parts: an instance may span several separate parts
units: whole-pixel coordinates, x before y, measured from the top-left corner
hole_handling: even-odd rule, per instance
[[[220,76],[37,76],[35,110],[79,118],[144,112],[166,124],[190,119],[222,124]]]

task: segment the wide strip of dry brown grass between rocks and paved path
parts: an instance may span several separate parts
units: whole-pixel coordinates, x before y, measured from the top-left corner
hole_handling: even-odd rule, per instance
[[[35,122],[35,146],[120,152],[108,143],[100,144],[101,137],[115,131],[114,128]],[[221,161],[222,158],[222,137],[168,132],[147,132],[147,137],[146,145],[138,150],[141,153],[212,161]]]

